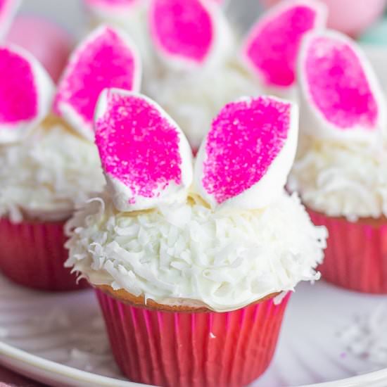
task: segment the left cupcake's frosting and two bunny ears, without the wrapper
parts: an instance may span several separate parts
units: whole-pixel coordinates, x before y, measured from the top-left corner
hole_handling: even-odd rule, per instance
[[[125,34],[99,27],[70,57],[58,87],[29,53],[0,47],[0,216],[63,220],[105,179],[92,139],[105,87],[139,88]]]

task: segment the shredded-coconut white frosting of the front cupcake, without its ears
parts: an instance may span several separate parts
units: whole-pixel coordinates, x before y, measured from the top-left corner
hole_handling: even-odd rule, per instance
[[[91,284],[168,305],[236,310],[319,278],[326,229],[296,194],[264,210],[214,212],[200,201],[118,212],[90,201],[67,224],[73,267]]]

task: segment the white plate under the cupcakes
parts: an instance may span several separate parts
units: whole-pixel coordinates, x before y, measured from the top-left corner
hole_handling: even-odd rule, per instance
[[[364,374],[381,364],[367,359],[367,353],[357,357],[348,352],[338,336],[346,326],[357,327],[356,316],[372,317],[383,304],[386,296],[343,291],[323,282],[301,284],[288,305],[274,361],[253,386],[333,381],[320,386],[386,387],[387,369]],[[386,322],[387,312],[381,316]],[[1,276],[0,363],[50,386],[139,386],[125,381],[115,366],[93,291],[40,293]],[[355,377],[338,381],[349,376]]]

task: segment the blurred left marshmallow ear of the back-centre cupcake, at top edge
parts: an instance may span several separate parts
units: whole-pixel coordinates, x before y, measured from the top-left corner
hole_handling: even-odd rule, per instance
[[[211,0],[151,0],[151,37],[161,58],[176,68],[196,68],[222,56],[231,44],[227,22]]]

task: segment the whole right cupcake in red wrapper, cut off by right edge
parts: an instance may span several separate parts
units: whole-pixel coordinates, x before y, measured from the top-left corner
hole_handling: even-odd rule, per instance
[[[386,101],[360,48],[313,32],[299,60],[300,146],[289,189],[329,230],[321,272],[338,286],[387,293]]]

